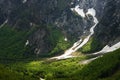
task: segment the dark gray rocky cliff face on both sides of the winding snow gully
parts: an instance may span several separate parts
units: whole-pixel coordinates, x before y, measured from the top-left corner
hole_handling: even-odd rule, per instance
[[[7,24],[18,31],[29,31],[37,27],[28,37],[30,46],[37,54],[48,53],[56,46],[53,47],[53,42],[48,41],[51,34],[49,25],[60,30],[68,41],[89,34],[89,29],[94,24],[93,19],[90,16],[82,18],[71,10],[79,5],[84,12],[89,8],[96,10],[99,24],[95,37],[107,44],[106,42],[119,41],[119,4],[120,1],[117,0],[1,0],[0,24],[8,19]]]

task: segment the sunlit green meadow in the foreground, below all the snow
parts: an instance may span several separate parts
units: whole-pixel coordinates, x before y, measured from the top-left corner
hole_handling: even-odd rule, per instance
[[[46,80],[119,80],[120,49],[83,65],[81,56],[60,61],[38,60],[6,64],[5,68],[31,78]]]

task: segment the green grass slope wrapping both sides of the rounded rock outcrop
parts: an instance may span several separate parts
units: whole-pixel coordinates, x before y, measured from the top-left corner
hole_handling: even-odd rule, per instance
[[[30,30],[16,30],[8,25],[0,29],[0,58],[16,59],[35,57],[31,46],[25,46],[28,37],[37,28],[44,28],[47,31],[46,44],[50,47],[50,52],[46,56],[62,54],[70,47],[70,41],[64,40],[64,35],[59,28],[52,26],[35,26]]]

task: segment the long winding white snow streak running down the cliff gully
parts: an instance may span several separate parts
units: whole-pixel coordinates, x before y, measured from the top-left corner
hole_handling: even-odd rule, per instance
[[[94,34],[94,28],[95,28],[96,25],[98,24],[98,20],[97,20],[97,18],[95,17],[95,15],[96,15],[95,9],[94,9],[94,8],[88,9],[88,12],[87,12],[86,14],[84,14],[83,9],[82,9],[82,11],[80,11],[79,6],[76,6],[76,7],[75,7],[75,10],[76,10],[76,12],[79,13],[79,15],[81,15],[81,16],[83,16],[83,17],[85,17],[85,15],[88,15],[88,14],[92,15],[92,16],[93,16],[93,19],[94,19],[95,25],[93,25],[93,26],[90,28],[90,34],[89,34],[84,40],[80,39],[79,41],[75,42],[70,49],[66,50],[63,55],[57,56],[57,57],[53,57],[52,59],[54,59],[54,58],[56,58],[56,59],[65,59],[65,58],[74,57],[74,56],[72,56],[71,54],[72,54],[73,52],[76,52],[76,51],[77,51],[78,49],[80,49],[81,47],[83,47],[83,46],[89,41],[90,37]]]

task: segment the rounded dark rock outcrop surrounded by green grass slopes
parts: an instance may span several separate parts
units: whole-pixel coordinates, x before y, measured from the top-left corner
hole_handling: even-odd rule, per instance
[[[49,44],[46,44],[45,37],[47,35],[46,30],[38,29],[34,32],[30,37],[30,46],[32,46],[34,53],[47,53],[49,52],[50,48],[48,47]]]

